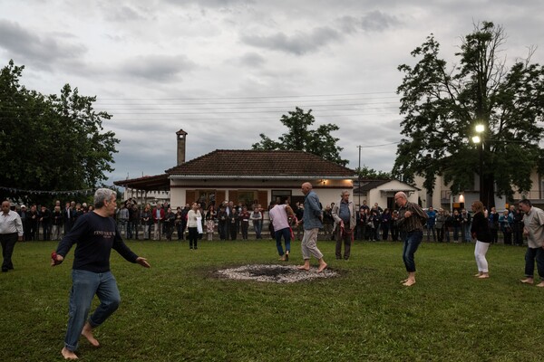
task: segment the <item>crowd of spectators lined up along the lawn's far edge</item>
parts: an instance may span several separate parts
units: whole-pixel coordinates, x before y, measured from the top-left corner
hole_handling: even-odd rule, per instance
[[[232,201],[224,201],[220,205],[212,203],[208,207],[203,202],[198,202],[202,216],[202,230],[208,240],[213,240],[214,235],[219,240],[248,240],[248,231],[252,230],[256,239],[263,238],[263,226],[267,220],[267,210],[258,204],[257,200],[251,205]],[[304,205],[296,203],[291,205],[296,215],[296,220],[302,220]],[[331,214],[334,203],[323,208],[323,230],[325,239],[335,240],[335,223]],[[55,201],[54,205],[20,205],[12,206],[20,216],[24,226],[24,240],[61,240],[63,234],[70,231],[75,220],[82,214],[92,211],[92,205],[86,203]],[[171,241],[176,236],[177,240],[184,240],[187,231],[187,214],[189,204],[177,207],[175,210],[168,202],[157,205],[138,205],[134,199],[121,203],[117,208],[115,217],[119,231],[126,239],[161,240]],[[454,210],[450,213],[442,208],[434,210],[426,209],[429,216],[426,227],[426,240],[438,243],[470,243],[471,242],[471,214],[465,209]],[[492,243],[498,243],[501,238],[505,244],[523,245],[523,212],[520,208],[510,205],[509,209],[498,212],[491,207],[487,215],[491,230]],[[377,203],[372,207],[366,205],[366,201],[360,205],[356,217],[355,240],[359,241],[399,241],[403,240],[395,221],[398,218],[396,210],[383,209]],[[293,232],[296,239],[302,239],[302,227],[293,224]],[[274,231],[269,225],[269,233]],[[200,235],[202,237],[202,235]]]

